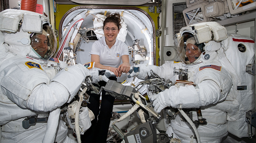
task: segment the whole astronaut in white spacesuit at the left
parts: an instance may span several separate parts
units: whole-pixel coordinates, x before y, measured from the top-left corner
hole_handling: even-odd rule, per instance
[[[0,12],[0,137],[6,142],[75,142],[59,119],[60,107],[97,72],[82,64],[58,68],[48,61],[57,46],[46,16],[25,10]],[[52,65],[52,66],[51,66]],[[107,80],[102,76],[101,80]],[[86,108],[85,127],[90,127]]]

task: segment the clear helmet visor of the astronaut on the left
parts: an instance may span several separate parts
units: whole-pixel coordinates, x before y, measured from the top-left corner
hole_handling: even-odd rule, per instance
[[[43,26],[42,33],[33,33],[30,36],[32,49],[39,59],[48,60],[56,51],[57,40],[48,25]]]

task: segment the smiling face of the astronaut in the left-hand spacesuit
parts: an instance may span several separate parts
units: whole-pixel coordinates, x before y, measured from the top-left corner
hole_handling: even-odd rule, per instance
[[[36,35],[31,38],[32,48],[38,53],[41,57],[44,58],[45,53],[48,50],[48,39],[45,35]]]

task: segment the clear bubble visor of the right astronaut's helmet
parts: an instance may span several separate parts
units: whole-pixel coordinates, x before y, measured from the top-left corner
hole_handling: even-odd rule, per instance
[[[184,34],[178,43],[178,55],[184,64],[195,64],[200,62],[201,53],[205,44],[197,44],[195,37],[191,34]]]

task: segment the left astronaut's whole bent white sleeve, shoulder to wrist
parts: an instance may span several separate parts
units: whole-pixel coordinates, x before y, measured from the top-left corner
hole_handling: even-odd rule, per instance
[[[82,65],[61,70],[52,81],[41,67],[28,69],[24,62],[5,70],[7,74],[1,80],[3,94],[22,108],[45,112],[60,107],[69,97],[73,98],[89,75]]]

